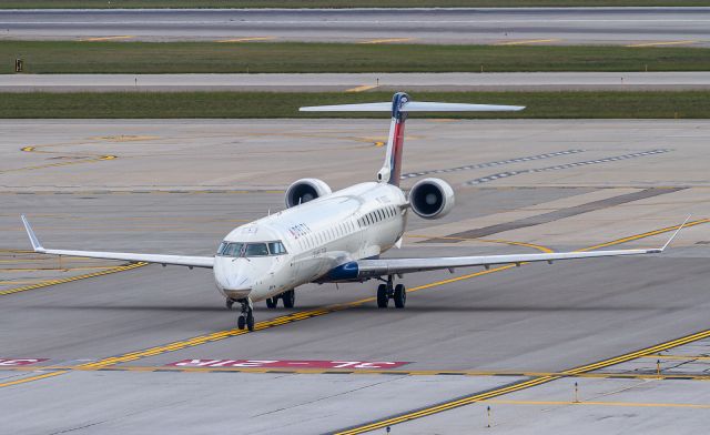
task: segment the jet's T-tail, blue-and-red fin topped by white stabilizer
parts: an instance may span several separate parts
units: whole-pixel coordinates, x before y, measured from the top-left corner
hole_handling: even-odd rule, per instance
[[[392,103],[363,103],[314,105],[301,108],[302,112],[390,112],[392,123],[387,136],[387,154],[377,173],[377,181],[399,185],[402,179],[402,154],[404,152],[404,124],[409,112],[509,112],[523,110],[523,105],[463,104],[412,101],[409,95],[397,92]]]

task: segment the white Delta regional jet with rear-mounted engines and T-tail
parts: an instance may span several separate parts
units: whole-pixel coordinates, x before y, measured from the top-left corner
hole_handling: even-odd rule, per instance
[[[189,267],[207,267],[214,272],[216,287],[242,306],[237,326],[254,330],[253,303],[266,301],[273,308],[283,301],[293,307],[295,292],[307,283],[343,283],[379,280],[377,306],[386,308],[392,300],[404,308],[407,293],[395,276],[434,270],[454,272],[457,267],[494,264],[520,264],[557,260],[657,254],[659,249],[594,252],[556,252],[545,254],[448,256],[429,259],[385,259],[381,255],[402,245],[410,212],[424,219],[438,219],[454,206],[454,190],[444,180],[424,179],[409,190],[399,189],[404,125],[409,112],[518,111],[523,107],[453,104],[412,101],[396,93],[392,103],[342,104],[301,108],[304,112],[386,111],[392,113],[385,162],[376,181],[355,184],[332,192],[318,179],[302,179],[286,190],[286,209],[234,229],[224,237],[214,256],[183,256],[44,249],[29,222],[22,222],[36,252],[92,259],[126,260]],[[682,225],[681,225],[682,227]],[[680,229],[679,229],[680,231]]]

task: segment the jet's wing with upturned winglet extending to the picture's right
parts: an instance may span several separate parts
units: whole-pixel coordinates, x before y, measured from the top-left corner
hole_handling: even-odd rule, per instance
[[[690,219],[690,216],[688,216]],[[616,250],[616,251],[591,251],[591,252],[555,252],[550,254],[514,254],[514,255],[479,255],[479,256],[444,256],[434,259],[378,259],[358,260],[357,276],[374,277],[384,275],[395,275],[412,272],[435,271],[440,269],[454,270],[456,267],[469,266],[491,266],[497,264],[517,264],[532,262],[554,262],[558,260],[596,259],[602,256],[625,256],[660,254],[688,222],[683,222],[671,237],[661,247],[650,250]]]

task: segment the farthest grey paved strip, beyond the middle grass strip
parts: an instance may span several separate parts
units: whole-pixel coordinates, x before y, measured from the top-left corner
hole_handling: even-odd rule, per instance
[[[710,8],[3,10],[6,39],[708,45]]]

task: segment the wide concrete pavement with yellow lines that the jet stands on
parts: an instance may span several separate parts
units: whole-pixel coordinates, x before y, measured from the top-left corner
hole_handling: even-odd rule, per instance
[[[372,282],[304,286],[294,310],[257,306],[258,331],[245,334],[233,330],[236,313],[224,308],[209,271],[138,264],[57,283],[85,272],[22,252],[20,213],[47,246],[209,254],[231,227],[281,209],[297,178],[335,189],[371,179],[386,127],[1,121],[0,249],[14,263],[0,264],[23,271],[0,270],[0,280],[38,286],[0,282],[0,427],[312,434],[392,425],[458,434],[489,424],[569,432],[582,422],[588,433],[668,433],[680,419],[688,432],[702,427],[707,121],[410,120],[403,183],[444,178],[457,208],[440,221],[413,218],[393,256],[656,246],[693,216],[663,256],[407,275],[403,311],[377,310]],[[504,172],[518,174],[493,178]],[[185,360],[205,365],[170,365]],[[260,366],[314,360],[407,364]]]

